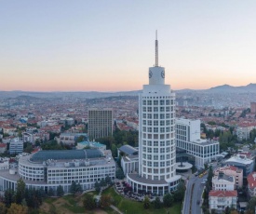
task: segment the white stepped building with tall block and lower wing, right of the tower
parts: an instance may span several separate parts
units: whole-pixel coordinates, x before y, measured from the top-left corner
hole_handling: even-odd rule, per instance
[[[204,168],[217,158],[220,143],[217,140],[200,139],[200,120],[176,119],[176,144],[186,154],[195,157],[195,167]]]

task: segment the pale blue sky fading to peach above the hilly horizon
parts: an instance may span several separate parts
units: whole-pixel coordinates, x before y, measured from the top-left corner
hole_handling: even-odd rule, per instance
[[[0,90],[127,91],[155,63],[171,88],[256,83],[255,0],[0,2]]]

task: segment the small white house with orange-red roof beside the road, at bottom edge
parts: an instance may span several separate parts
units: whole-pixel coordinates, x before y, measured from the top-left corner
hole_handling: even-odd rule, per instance
[[[226,207],[237,205],[237,191],[212,190],[209,192],[209,210],[215,209],[217,212],[223,212]]]

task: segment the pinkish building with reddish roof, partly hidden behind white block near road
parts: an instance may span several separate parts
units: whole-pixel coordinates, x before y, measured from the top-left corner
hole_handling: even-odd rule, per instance
[[[227,176],[233,176],[236,180],[236,189],[243,187],[243,169],[234,166],[217,167],[214,170],[214,175],[218,176],[219,173],[224,173]]]

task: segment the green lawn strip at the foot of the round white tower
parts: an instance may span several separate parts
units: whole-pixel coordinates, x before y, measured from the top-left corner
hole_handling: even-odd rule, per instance
[[[110,187],[102,192],[102,194],[110,194],[114,199],[115,207],[119,208],[122,212],[126,214],[155,214],[155,213],[168,213],[169,214],[180,214],[182,212],[182,202],[173,205],[172,207],[166,208],[162,207],[159,209],[155,209],[153,205],[149,209],[145,209],[143,207],[143,203],[130,200],[121,196],[120,194],[116,194],[114,187]]]

